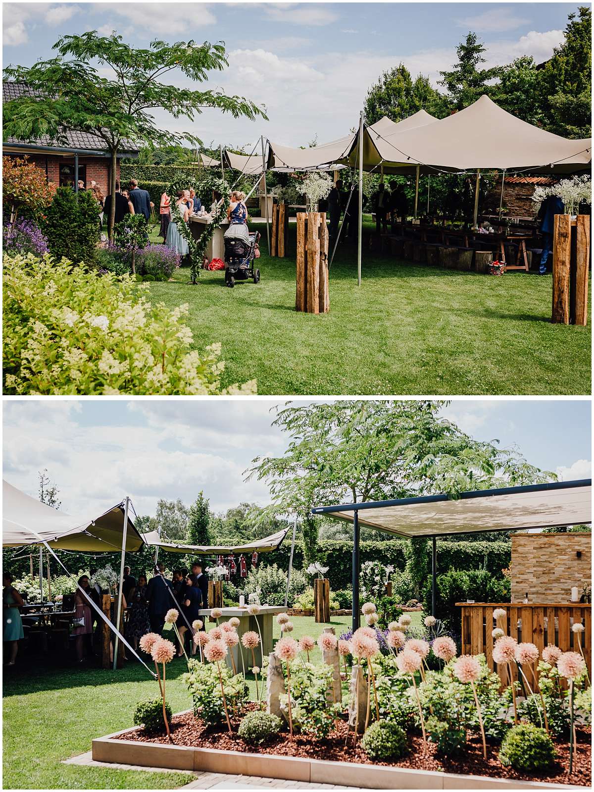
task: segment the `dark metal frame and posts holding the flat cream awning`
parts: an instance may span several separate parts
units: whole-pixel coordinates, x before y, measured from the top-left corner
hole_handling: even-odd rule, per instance
[[[457,498],[452,498],[449,495],[421,495],[418,497],[405,497],[405,498],[396,498],[394,500],[389,501],[365,501],[362,503],[350,503],[350,504],[341,504],[341,505],[333,505],[333,506],[317,506],[311,509],[312,514],[317,515],[326,515],[329,517],[333,517],[335,520],[345,520],[345,522],[352,522],[352,630],[353,632],[360,626],[360,588],[359,588],[359,574],[360,574],[360,558],[359,558],[359,550],[360,550],[360,524],[363,524],[365,527],[372,527],[379,531],[385,531],[390,533],[391,535],[398,536],[399,538],[403,539],[414,539],[418,537],[422,537],[423,539],[431,539],[432,541],[432,552],[431,552],[431,574],[432,574],[432,587],[431,587],[431,612],[432,615],[435,615],[435,607],[436,607],[436,539],[438,536],[451,536],[455,534],[482,534],[482,533],[503,533],[504,531],[527,531],[532,528],[543,528],[543,525],[538,526],[524,526],[521,527],[514,527],[514,525],[509,525],[505,528],[493,528],[486,525],[484,528],[477,530],[476,528],[472,528],[468,531],[465,531],[463,528],[459,529],[458,531],[439,531],[435,534],[398,534],[397,531],[388,530],[386,527],[382,528],[378,524],[373,524],[370,521],[367,521],[362,516],[360,518],[360,512],[373,512],[375,509],[379,508],[398,508],[399,506],[409,506],[409,505],[416,505],[416,504],[429,504],[429,503],[444,503],[444,502],[451,502],[451,501],[465,501],[465,500],[472,500],[474,498],[489,498],[489,497],[496,497],[498,495],[514,495],[514,494],[523,494],[523,493],[534,493],[534,492],[547,492],[547,491],[554,491],[556,489],[577,489],[581,487],[591,487],[592,486],[592,479],[591,478],[584,478],[579,479],[577,481],[571,482],[548,482],[546,484],[529,484],[529,485],[521,485],[515,487],[500,487],[497,489],[478,489],[473,490],[470,492],[463,492],[459,493]],[[344,516],[341,512],[352,512],[348,516],[345,514]],[[584,522],[591,522],[592,517],[590,516],[589,520],[584,520]],[[552,521],[549,527],[563,527],[567,524],[566,521],[561,521],[555,523]]]

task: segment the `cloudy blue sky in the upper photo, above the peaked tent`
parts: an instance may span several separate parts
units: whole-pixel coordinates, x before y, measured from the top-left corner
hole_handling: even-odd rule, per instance
[[[4,63],[51,57],[64,33],[112,29],[135,46],[166,40],[224,40],[230,67],[211,87],[240,93],[268,109],[268,123],[206,111],[193,126],[156,114],[159,124],[214,141],[253,147],[336,139],[358,123],[367,88],[401,61],[435,84],[474,30],[487,65],[520,55],[537,62],[562,40],[574,3],[4,3]],[[173,82],[173,81],[172,81]],[[180,83],[182,84],[182,83]],[[187,83],[184,83],[187,84]]]

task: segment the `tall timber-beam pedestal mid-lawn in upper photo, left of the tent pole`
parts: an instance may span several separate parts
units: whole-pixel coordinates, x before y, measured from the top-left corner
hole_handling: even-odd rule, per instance
[[[308,314],[326,314],[330,310],[325,211],[301,211],[297,215],[295,310]]]

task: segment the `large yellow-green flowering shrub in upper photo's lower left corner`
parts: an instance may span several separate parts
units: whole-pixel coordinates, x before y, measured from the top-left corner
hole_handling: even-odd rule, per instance
[[[7,394],[253,393],[222,391],[220,345],[188,352],[188,306],[151,305],[125,277],[70,261],[6,256],[3,289]],[[297,576],[295,576],[295,580]]]

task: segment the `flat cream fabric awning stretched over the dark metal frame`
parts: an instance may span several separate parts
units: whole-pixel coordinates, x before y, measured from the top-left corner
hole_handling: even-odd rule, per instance
[[[353,506],[326,506],[312,512],[352,522]],[[360,525],[408,539],[588,524],[592,521],[592,480],[480,489],[461,493],[457,500],[428,495],[375,501],[357,504],[356,510]]]

